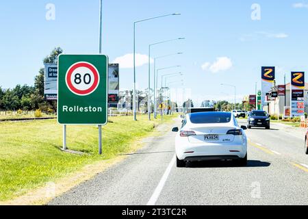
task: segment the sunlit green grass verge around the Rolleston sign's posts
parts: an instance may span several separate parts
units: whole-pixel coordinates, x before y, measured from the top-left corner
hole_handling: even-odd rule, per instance
[[[56,120],[0,123],[0,201],[8,201],[80,170],[86,164],[112,159],[132,150],[132,142],[147,136],[159,123],[175,116],[149,121],[138,116],[110,118],[103,127],[103,155],[98,155],[98,129],[95,126],[68,126],[67,145],[88,155],[64,153],[62,126]]]

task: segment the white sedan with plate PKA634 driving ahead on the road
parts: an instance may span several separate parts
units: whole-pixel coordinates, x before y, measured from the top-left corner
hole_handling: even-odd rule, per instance
[[[246,126],[240,127],[231,112],[186,114],[182,127],[175,127],[177,167],[186,162],[235,160],[247,164]]]

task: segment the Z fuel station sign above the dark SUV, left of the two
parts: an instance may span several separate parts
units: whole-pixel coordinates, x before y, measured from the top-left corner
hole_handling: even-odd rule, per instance
[[[274,86],[275,67],[261,67],[261,105],[267,105],[266,93]]]

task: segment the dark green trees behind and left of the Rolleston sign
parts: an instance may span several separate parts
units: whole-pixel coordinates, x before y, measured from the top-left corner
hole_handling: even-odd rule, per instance
[[[43,63],[57,63],[57,57],[63,53],[60,47],[51,51],[44,58]],[[40,68],[34,79],[34,86],[17,85],[12,89],[1,88],[0,86],[0,110],[38,110],[42,112],[55,112],[56,101],[44,99],[44,68]]]

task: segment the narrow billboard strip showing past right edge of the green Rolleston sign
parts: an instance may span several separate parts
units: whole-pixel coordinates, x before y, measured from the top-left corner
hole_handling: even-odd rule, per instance
[[[108,66],[108,103],[118,103],[120,81],[119,81],[119,64],[109,64]]]

